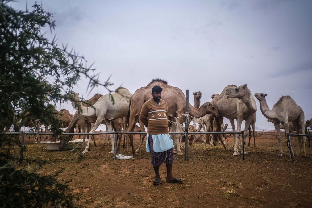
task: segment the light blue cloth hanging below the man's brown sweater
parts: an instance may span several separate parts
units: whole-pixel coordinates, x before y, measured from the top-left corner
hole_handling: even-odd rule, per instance
[[[173,140],[169,134],[154,134],[153,138],[153,150],[154,152],[164,152],[174,147]],[[146,152],[149,152],[149,134],[146,138]]]

